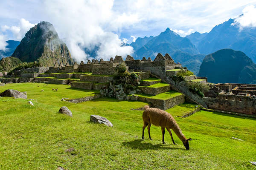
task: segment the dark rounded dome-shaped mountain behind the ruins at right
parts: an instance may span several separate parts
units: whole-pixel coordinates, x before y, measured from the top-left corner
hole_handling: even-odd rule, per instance
[[[256,64],[241,51],[222,49],[204,57],[198,76],[213,83],[256,84]]]

